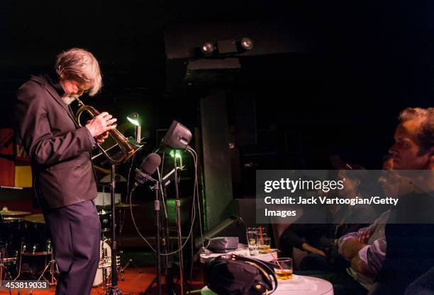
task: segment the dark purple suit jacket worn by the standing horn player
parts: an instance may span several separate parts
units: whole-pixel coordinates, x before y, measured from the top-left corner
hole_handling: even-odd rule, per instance
[[[31,159],[43,206],[65,207],[96,197],[89,133],[79,127],[47,76],[32,76],[17,93],[16,125]]]

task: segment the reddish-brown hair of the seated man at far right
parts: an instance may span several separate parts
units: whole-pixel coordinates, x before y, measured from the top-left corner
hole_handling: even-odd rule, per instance
[[[406,108],[399,114],[401,123],[413,119],[422,120],[416,139],[425,151],[430,151],[434,147],[434,108]]]

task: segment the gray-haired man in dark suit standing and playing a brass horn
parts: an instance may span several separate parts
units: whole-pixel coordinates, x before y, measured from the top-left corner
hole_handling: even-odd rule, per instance
[[[56,295],[90,294],[99,264],[101,224],[90,151],[116,128],[116,119],[102,112],[80,127],[69,104],[86,92],[94,96],[101,85],[94,55],[72,48],[57,56],[55,73],[31,76],[17,93],[18,135],[60,270]]]

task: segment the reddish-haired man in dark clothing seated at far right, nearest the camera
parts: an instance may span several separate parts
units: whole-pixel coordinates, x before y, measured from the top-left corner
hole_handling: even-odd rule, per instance
[[[434,266],[434,108],[401,112],[394,139],[389,150],[394,168],[413,170],[415,185],[399,198],[386,224],[386,258],[376,292],[381,295],[404,294],[408,284]]]

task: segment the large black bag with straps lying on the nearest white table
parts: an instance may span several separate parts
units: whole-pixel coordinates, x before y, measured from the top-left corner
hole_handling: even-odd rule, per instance
[[[277,288],[272,267],[260,260],[237,255],[222,255],[209,260],[205,282],[219,295],[272,294]]]

